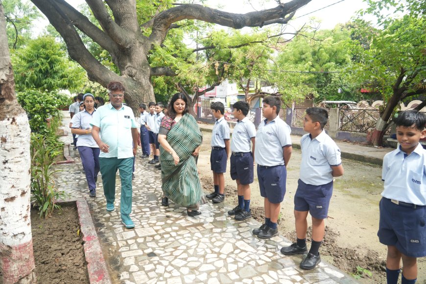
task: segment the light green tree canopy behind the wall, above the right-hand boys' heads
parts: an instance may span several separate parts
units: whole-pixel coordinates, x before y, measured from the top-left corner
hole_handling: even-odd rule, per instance
[[[315,100],[354,99],[359,94],[359,84],[345,74],[345,68],[352,65],[351,41],[350,30],[337,25],[332,30],[306,33],[289,42],[272,67],[273,81],[284,101],[309,94],[314,95]],[[312,73],[304,73],[306,71]]]

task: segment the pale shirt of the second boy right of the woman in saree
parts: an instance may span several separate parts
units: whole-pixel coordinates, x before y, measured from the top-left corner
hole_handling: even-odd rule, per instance
[[[231,140],[231,151],[251,152],[251,139],[256,137],[256,127],[247,117],[238,120]]]

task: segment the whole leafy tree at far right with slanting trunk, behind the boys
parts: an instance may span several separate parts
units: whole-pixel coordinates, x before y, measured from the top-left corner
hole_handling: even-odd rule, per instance
[[[371,136],[371,143],[381,145],[383,135],[401,101],[426,94],[426,2],[417,0],[369,0],[366,11],[376,15],[381,30],[364,30],[371,42],[368,49],[359,46],[359,65],[355,76],[369,83],[385,102]],[[384,15],[389,6],[403,17]],[[425,106],[425,100],[419,108]]]

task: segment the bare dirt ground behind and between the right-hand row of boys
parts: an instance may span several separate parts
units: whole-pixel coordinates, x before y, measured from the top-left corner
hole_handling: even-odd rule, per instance
[[[198,159],[198,169],[204,191],[213,191],[213,175],[210,169],[211,132],[203,132],[203,145]],[[281,204],[281,235],[295,240],[293,197],[297,189],[301,151],[293,149],[287,166],[287,183],[284,201]],[[345,174],[334,181],[326,236],[320,248],[321,257],[349,274],[356,267],[372,272],[372,277],[361,278],[361,283],[384,283],[386,246],[379,243],[379,201],[383,182],[381,167],[353,160],[343,159]],[[251,210],[254,218],[264,221],[263,198],[260,196],[256,167],[251,185]],[[237,205],[237,184],[229,175],[229,161],[225,173],[225,203]],[[311,225],[308,217],[308,226]],[[310,229],[310,228],[309,228]],[[310,240],[308,232],[307,240]],[[310,244],[308,244],[310,245]],[[425,259],[418,260],[418,282],[426,283]]]

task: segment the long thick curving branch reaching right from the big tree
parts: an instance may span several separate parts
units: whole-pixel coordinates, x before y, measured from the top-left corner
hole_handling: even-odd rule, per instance
[[[161,12],[155,17],[152,33],[149,39],[152,44],[161,44],[166,38],[169,26],[175,22],[194,19],[208,23],[220,24],[240,29],[245,26],[260,26],[265,23],[283,19],[285,15],[291,14],[311,0],[292,0],[287,3],[263,11],[250,12],[247,14],[234,14],[219,11],[198,4],[182,4]],[[284,18],[285,19],[285,18]],[[271,23],[272,24],[272,23]]]

